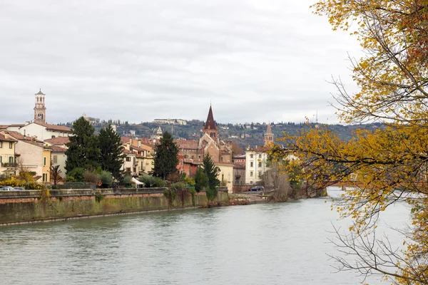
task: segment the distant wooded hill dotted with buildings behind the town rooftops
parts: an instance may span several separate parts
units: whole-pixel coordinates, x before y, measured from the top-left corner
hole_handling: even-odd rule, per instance
[[[138,124],[129,124],[128,122],[121,122],[120,120],[99,120],[91,122],[96,132],[101,128],[105,128],[109,123],[115,124],[118,133],[123,136],[131,135],[135,132],[138,138],[150,138],[151,135],[156,133],[160,126],[163,131],[172,133],[175,138],[183,138],[186,140],[198,140],[202,132],[203,121],[201,120],[188,120],[187,125],[168,125],[153,122],[142,122]],[[66,123],[71,127],[71,123]],[[352,138],[352,131],[358,128],[365,130],[376,130],[382,128],[384,125],[381,123],[364,124],[364,125],[328,125],[327,128],[338,134],[342,140],[350,140]],[[289,133],[290,135],[297,135],[297,130],[302,128],[315,127],[315,123],[272,123],[272,133],[275,138],[281,138],[282,133]],[[250,124],[218,124],[219,135],[221,140],[228,140],[238,143],[240,147],[254,147],[255,145],[263,145],[264,133],[267,129],[265,123],[250,123]],[[133,134],[132,134],[133,135]],[[278,142],[280,143],[280,142]]]

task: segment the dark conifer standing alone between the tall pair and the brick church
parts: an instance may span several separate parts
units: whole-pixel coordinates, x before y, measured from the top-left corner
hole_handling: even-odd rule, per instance
[[[178,146],[170,133],[163,133],[161,141],[159,145],[156,145],[155,150],[153,176],[165,179],[171,173],[177,172]]]

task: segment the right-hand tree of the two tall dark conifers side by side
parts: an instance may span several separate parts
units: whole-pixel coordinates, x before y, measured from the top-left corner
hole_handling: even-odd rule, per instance
[[[123,175],[121,167],[126,156],[122,152],[121,136],[113,130],[111,125],[108,125],[108,128],[100,130],[98,145],[101,153],[99,157],[101,168],[110,172],[117,180],[121,180]]]

